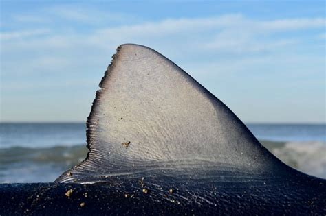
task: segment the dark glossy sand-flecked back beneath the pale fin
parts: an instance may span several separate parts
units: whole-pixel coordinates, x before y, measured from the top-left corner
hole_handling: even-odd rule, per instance
[[[220,184],[207,180],[178,182],[173,178],[111,178],[96,184],[1,184],[0,214],[325,215],[325,181],[296,174],[290,173],[292,178],[280,176],[279,181],[266,178]]]

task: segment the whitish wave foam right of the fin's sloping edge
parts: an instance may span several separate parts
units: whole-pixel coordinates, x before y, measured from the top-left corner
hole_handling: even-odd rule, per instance
[[[326,178],[326,143],[288,142],[272,149],[284,163],[312,176]]]

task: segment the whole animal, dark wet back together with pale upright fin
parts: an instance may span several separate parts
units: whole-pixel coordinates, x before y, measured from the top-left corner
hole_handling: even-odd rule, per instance
[[[0,215],[326,214],[326,180],[148,47],[118,47],[87,128],[87,158],[54,183],[0,184]]]

